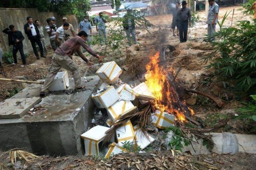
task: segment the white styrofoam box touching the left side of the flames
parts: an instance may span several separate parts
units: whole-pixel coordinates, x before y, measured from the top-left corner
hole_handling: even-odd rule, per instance
[[[139,100],[142,104],[147,103],[148,100],[155,100],[155,96],[144,82],[134,87],[133,90],[136,92],[136,98],[142,99]]]

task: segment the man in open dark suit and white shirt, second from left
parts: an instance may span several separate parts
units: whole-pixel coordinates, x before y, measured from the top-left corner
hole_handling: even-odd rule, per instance
[[[30,40],[32,48],[34,50],[36,59],[40,59],[39,55],[38,55],[38,50],[36,50],[36,45],[38,44],[39,49],[40,49],[40,54],[41,57],[45,57],[44,56],[44,49],[43,49],[43,45],[41,42],[41,36],[40,36],[40,32],[38,29],[38,26],[36,26],[36,24],[33,23],[33,19],[31,16],[27,17],[27,23],[24,25],[24,31],[28,37],[28,40]]]

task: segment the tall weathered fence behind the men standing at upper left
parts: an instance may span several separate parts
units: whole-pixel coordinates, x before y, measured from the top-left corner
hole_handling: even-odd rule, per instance
[[[56,18],[56,25],[60,27],[62,23],[63,16],[56,14],[55,12],[38,12],[36,8],[0,8],[0,40],[2,41],[1,47],[3,52],[9,50],[8,45],[8,36],[3,33],[3,29],[9,27],[10,24],[15,25],[15,28],[22,32],[23,36],[25,37],[23,41],[24,46],[24,53],[32,52],[32,46],[30,41],[27,39],[27,35],[24,32],[24,24],[27,23],[27,16],[31,16],[33,20],[39,20],[43,27],[46,27],[47,18],[51,18],[55,16]],[[73,25],[75,30],[78,29],[78,22],[75,15],[68,15],[68,22]],[[44,29],[44,36],[46,37],[46,43],[49,45],[48,34]],[[19,54],[19,53],[18,53]]]

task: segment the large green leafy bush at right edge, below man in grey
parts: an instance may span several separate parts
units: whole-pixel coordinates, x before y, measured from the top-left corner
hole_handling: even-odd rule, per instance
[[[251,95],[256,92],[256,32],[254,24],[240,21],[236,28],[222,28],[214,34],[215,41],[207,41],[215,52],[204,57],[212,60],[206,67],[214,68],[214,75],[227,81],[234,81],[238,95]],[[218,55],[216,55],[218,54]]]

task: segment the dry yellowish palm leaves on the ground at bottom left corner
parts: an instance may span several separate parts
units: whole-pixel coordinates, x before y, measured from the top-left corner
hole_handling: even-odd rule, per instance
[[[16,159],[24,159],[26,162],[32,162],[36,158],[40,158],[40,156],[36,156],[34,154],[31,154],[30,152],[17,150],[17,151],[10,151],[9,159],[11,160],[11,163],[16,163]]]

